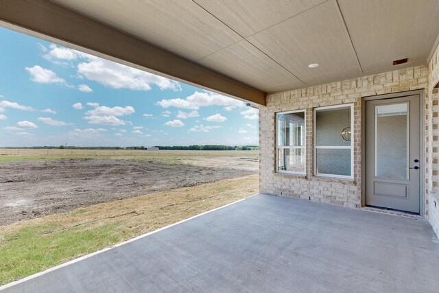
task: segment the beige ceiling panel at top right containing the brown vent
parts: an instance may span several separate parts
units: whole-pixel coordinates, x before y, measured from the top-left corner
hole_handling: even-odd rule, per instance
[[[439,32],[438,0],[338,0],[365,73],[427,63]]]

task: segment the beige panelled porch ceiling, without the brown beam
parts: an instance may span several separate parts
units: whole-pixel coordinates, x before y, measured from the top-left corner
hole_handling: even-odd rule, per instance
[[[424,64],[439,34],[436,0],[52,2],[264,92]]]

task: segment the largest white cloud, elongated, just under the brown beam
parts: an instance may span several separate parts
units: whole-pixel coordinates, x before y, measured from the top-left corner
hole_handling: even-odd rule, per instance
[[[155,84],[162,90],[181,91],[179,82],[95,56],[87,56],[78,64],[78,73],[113,89],[149,91]]]

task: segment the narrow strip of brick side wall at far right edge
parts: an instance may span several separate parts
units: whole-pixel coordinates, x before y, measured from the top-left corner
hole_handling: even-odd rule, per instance
[[[429,220],[439,237],[439,93],[434,86],[439,82],[439,47],[429,61],[429,99],[427,99],[427,176],[426,197],[429,202]]]

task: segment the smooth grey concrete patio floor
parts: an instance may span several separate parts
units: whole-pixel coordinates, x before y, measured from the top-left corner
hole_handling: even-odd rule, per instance
[[[4,292],[438,292],[424,220],[258,195]]]

